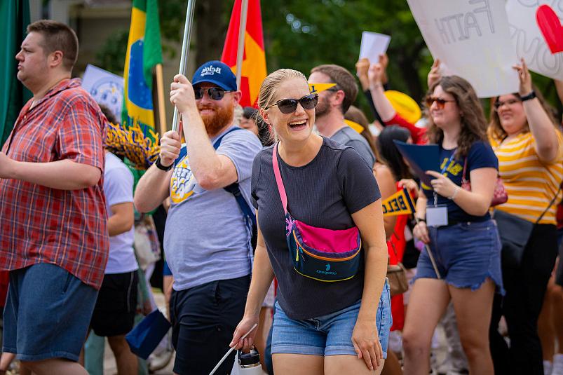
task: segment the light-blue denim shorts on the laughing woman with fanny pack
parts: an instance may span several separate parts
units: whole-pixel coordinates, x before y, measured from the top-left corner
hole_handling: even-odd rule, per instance
[[[352,343],[352,332],[361,301],[340,311],[317,318],[293,320],[287,317],[276,301],[276,313],[273,316],[273,334],[271,353],[290,353],[306,355],[357,355]],[[391,318],[391,294],[388,282],[377,306],[377,332],[387,357]]]

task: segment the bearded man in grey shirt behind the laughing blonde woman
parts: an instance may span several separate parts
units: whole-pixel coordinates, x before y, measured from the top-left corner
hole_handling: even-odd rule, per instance
[[[344,114],[358,95],[354,76],[339,65],[326,64],[311,69],[308,82],[336,83],[335,86],[318,93],[315,125],[320,135],[351,146],[373,167],[375,156],[367,140],[344,123]]]

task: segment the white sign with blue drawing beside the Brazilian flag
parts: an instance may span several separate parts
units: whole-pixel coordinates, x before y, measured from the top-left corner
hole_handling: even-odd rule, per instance
[[[121,123],[123,105],[123,78],[104,69],[88,64],[82,77],[82,87],[98,104],[104,104]]]

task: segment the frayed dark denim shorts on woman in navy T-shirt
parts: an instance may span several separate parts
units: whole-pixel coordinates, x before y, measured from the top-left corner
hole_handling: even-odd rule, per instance
[[[504,294],[501,273],[501,240],[493,220],[428,227],[430,251],[447,284],[477,290],[490,278],[497,292]],[[416,265],[419,278],[437,278],[426,252],[422,250]]]

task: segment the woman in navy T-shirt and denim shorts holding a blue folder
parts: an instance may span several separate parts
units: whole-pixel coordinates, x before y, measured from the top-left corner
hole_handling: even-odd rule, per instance
[[[501,245],[489,206],[498,161],[470,83],[442,77],[430,87],[427,104],[428,139],[440,146],[440,172],[427,172],[431,186],[422,184],[414,235],[430,247],[440,275],[423,250],[403,330],[405,374],[428,374],[430,340],[451,299],[470,374],[492,375],[489,322],[502,278]],[[470,191],[461,188],[464,173]]]

